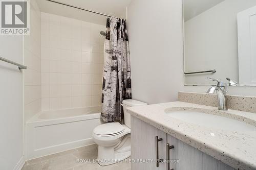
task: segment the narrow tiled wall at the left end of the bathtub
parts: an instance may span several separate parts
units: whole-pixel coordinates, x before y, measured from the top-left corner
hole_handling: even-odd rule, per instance
[[[40,10],[30,1],[30,35],[24,39],[24,114],[26,121],[41,110]]]

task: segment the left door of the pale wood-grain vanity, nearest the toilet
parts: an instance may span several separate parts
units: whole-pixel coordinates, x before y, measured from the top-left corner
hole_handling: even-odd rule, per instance
[[[158,142],[159,159],[165,159],[166,133],[134,116],[131,117],[132,160],[135,161],[132,163],[132,170],[166,169],[165,163],[159,163],[159,167],[156,167],[156,136],[162,138]]]

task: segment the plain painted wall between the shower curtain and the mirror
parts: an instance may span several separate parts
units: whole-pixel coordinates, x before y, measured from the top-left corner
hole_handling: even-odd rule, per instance
[[[128,7],[133,99],[178,100],[183,87],[182,1],[133,0]]]

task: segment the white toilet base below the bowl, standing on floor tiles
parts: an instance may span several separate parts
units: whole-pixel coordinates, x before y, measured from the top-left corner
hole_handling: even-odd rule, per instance
[[[98,147],[98,164],[101,166],[120,162],[131,156],[131,134],[125,135],[113,147]]]

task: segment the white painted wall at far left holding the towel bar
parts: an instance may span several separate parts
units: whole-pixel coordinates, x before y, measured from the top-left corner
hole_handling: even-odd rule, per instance
[[[0,36],[0,56],[23,64],[23,36]],[[0,169],[24,164],[23,71],[0,61]]]

